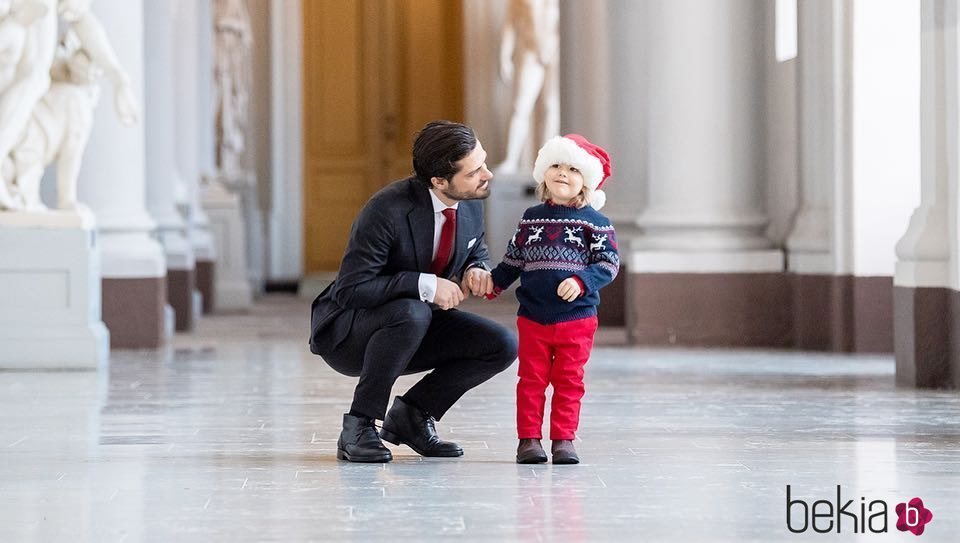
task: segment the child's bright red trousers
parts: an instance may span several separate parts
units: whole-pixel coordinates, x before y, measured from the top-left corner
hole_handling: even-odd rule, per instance
[[[550,439],[573,439],[580,425],[583,368],[590,358],[597,318],[539,324],[517,317],[520,381],[517,383],[517,435],[543,438],[547,385],[553,385]]]

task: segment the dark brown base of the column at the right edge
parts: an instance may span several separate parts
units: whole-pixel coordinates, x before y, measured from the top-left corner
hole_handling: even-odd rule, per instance
[[[952,307],[951,307],[952,306]],[[897,385],[909,388],[960,387],[960,337],[951,309],[960,310],[960,295],[947,288],[894,287],[894,349]]]

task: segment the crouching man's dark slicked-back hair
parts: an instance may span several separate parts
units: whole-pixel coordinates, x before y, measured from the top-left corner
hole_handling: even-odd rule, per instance
[[[413,141],[413,171],[428,187],[430,179],[453,179],[457,162],[477,147],[472,128],[451,121],[431,121]]]

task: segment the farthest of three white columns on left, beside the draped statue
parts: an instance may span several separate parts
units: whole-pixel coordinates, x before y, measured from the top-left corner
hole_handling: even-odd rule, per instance
[[[209,23],[209,6],[195,0],[176,2],[177,169],[184,182],[178,205],[189,225],[190,244],[196,258],[197,288],[203,293],[203,312],[208,313],[213,309],[214,261],[217,256],[210,220],[200,205],[201,178],[211,173],[202,169],[201,160],[203,164],[212,164],[213,153],[210,140],[201,138],[201,131],[212,123],[212,117],[208,119],[202,109],[202,95],[211,89],[200,78],[201,70],[211,69],[210,45],[204,44],[204,40],[209,39],[209,30],[204,27]],[[212,127],[208,129],[212,131]],[[203,145],[211,145],[211,148],[206,150]]]

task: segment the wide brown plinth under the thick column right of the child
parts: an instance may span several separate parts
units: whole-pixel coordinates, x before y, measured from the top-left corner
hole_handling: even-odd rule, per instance
[[[789,347],[783,273],[631,273],[627,337],[640,345]]]

